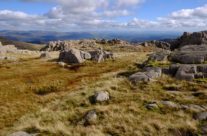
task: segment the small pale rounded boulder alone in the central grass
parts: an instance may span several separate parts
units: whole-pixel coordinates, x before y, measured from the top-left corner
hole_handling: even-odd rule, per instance
[[[96,92],[94,95],[94,102],[104,102],[109,100],[109,93],[106,91]]]

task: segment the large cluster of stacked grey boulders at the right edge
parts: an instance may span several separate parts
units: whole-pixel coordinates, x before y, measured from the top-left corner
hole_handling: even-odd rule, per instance
[[[142,43],[143,46],[155,46],[162,48],[161,51],[149,54],[149,62],[169,62],[168,73],[178,80],[189,80],[207,78],[207,31],[187,33],[172,43],[161,41],[150,41]],[[171,49],[174,49],[171,51]],[[162,68],[166,70],[166,68]],[[130,76],[130,80],[148,81],[147,72],[138,72]],[[138,78],[139,77],[139,78]],[[135,80],[135,81],[136,81]]]

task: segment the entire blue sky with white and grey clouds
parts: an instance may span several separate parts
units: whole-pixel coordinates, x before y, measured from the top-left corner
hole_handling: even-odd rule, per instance
[[[207,0],[1,0],[0,30],[200,31]]]

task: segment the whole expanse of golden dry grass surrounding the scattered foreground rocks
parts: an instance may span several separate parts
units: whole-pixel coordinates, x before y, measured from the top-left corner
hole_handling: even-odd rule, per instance
[[[126,77],[139,70],[135,63],[144,61],[146,53],[116,56],[116,61],[87,62],[70,69],[39,60],[1,67],[0,134],[24,130],[40,136],[198,135],[200,122],[192,118],[194,112],[165,107],[147,110],[145,105],[161,100],[205,105],[205,82],[177,81],[163,75],[154,82],[134,86]],[[38,95],[34,88],[44,88],[47,93]],[[168,91],[174,89],[176,93]],[[108,91],[111,99],[91,104],[89,97],[98,90]],[[84,126],[82,117],[92,109],[97,111],[98,121]]]

